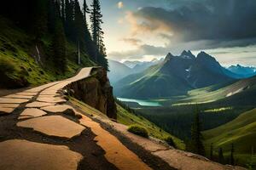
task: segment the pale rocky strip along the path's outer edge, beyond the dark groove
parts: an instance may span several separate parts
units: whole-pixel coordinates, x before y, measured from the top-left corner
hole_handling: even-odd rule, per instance
[[[159,144],[154,140],[148,140],[127,132],[125,125],[112,122],[113,128],[123,133],[134,143],[141,145],[145,150],[148,150],[154,156],[159,156],[166,161],[171,167],[181,170],[245,170],[243,167],[224,166],[217,162],[209,161],[203,156],[198,156],[182,150],[175,150],[163,144]]]

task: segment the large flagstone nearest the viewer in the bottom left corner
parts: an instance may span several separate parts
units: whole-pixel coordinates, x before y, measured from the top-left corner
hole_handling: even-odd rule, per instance
[[[0,150],[3,170],[76,170],[83,158],[67,146],[19,139],[0,143]]]

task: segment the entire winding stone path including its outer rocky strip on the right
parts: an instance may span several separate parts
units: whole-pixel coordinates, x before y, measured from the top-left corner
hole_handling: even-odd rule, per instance
[[[152,169],[148,167],[150,162],[146,164],[145,160],[128,149],[127,144],[110,133],[110,130],[106,130],[99,122],[85,116],[73,106],[67,105],[66,99],[62,98],[61,89],[71,82],[89,77],[91,70],[92,68],[84,68],[77,76],[67,80],[50,82],[0,98],[0,118],[4,117],[11,122],[7,133],[18,131],[14,137],[7,135],[5,140],[0,133],[1,170]],[[97,112],[89,106],[83,111],[88,115]],[[242,169],[223,166],[201,156],[171,149],[127,132],[127,127],[111,122],[106,116],[97,117],[98,121],[108,123],[126,139],[141,146],[143,152],[165,161],[165,169]],[[1,123],[4,124],[4,119],[0,120],[2,128],[4,126]],[[94,147],[94,150],[90,150],[90,147]],[[90,150],[90,153],[85,153],[84,150]],[[95,161],[96,164],[91,166],[93,163],[87,160]]]

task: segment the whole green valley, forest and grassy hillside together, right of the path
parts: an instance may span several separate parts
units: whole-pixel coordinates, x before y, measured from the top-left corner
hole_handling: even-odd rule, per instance
[[[215,161],[218,161],[219,148],[223,148],[225,162],[229,163],[230,147],[234,144],[236,164],[247,166],[255,163],[255,156],[252,156],[256,147],[255,87],[256,77],[249,77],[192,89],[183,95],[142,100],[160,105],[140,105],[137,99],[123,99],[123,102],[137,115],[183,139],[185,144],[189,142],[194,113],[198,108],[207,156],[210,156],[213,144]]]

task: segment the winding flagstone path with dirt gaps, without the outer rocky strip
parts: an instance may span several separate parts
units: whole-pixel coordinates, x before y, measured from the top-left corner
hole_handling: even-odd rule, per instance
[[[59,90],[89,77],[91,70],[0,98],[0,169],[151,169],[100,124],[84,115],[79,121],[73,107],[62,107],[67,101]],[[71,109],[73,115],[65,114]],[[58,150],[60,156],[54,156]]]

